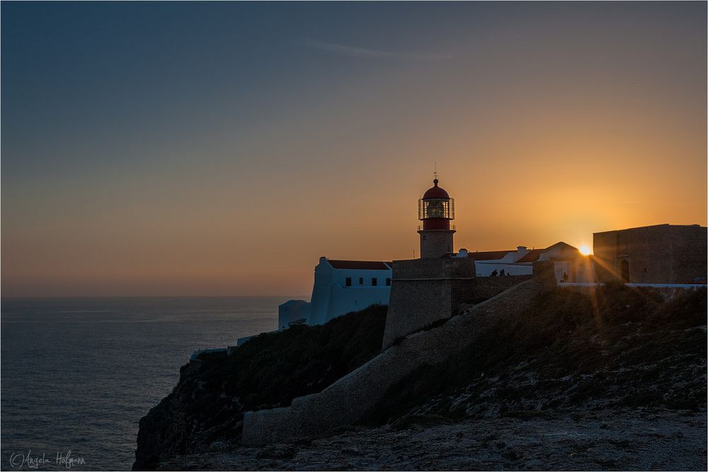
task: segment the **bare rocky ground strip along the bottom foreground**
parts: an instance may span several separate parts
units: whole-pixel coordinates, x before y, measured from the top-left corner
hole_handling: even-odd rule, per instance
[[[217,451],[218,449],[224,449]],[[299,444],[179,456],[163,470],[706,470],[706,415],[625,409],[351,428]]]

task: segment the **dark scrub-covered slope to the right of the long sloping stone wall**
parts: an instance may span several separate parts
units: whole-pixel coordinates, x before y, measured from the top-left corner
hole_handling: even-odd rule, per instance
[[[706,403],[706,290],[663,301],[610,285],[539,294],[491,328],[389,389],[368,424],[539,415],[562,408]],[[426,420],[425,418],[428,418]]]

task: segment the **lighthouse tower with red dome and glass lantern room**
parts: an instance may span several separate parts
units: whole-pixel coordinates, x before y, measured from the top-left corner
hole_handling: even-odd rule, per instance
[[[418,219],[423,221],[418,226],[421,235],[421,258],[440,258],[452,253],[452,235],[455,226],[450,224],[455,219],[455,200],[438,187],[438,179],[433,180],[429,188],[418,200]]]

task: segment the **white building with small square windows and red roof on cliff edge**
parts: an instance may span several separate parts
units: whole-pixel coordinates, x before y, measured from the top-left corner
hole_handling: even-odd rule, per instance
[[[278,329],[299,323],[321,325],[351,311],[388,304],[391,265],[374,260],[319,258],[310,301],[290,300],[278,306]]]

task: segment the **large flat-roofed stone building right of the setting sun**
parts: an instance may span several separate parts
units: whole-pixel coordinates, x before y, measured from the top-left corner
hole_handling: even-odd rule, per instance
[[[657,225],[593,235],[598,282],[622,280],[622,261],[634,283],[687,284],[706,275],[707,229]]]

